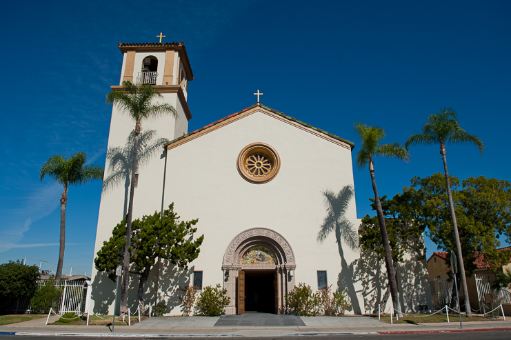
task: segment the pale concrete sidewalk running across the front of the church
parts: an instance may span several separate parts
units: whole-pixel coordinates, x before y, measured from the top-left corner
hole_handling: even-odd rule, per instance
[[[365,318],[366,322],[362,319]],[[50,322],[58,317],[50,317]],[[161,319],[161,320],[155,320]],[[392,334],[408,332],[457,332],[459,323],[383,323],[369,317],[301,317],[305,326],[213,326],[218,317],[167,317],[150,318],[133,326],[116,326],[112,334],[106,326],[45,326],[46,318],[0,326],[0,334],[13,332],[19,335],[70,335],[114,337],[282,337],[321,334]],[[161,326],[165,324],[165,326]],[[463,330],[509,330],[511,321],[474,321],[463,323]]]

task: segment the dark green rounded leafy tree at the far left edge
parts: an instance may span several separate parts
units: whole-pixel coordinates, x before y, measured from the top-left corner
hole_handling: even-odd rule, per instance
[[[37,289],[39,268],[17,261],[0,264],[0,310],[18,297],[34,294]]]

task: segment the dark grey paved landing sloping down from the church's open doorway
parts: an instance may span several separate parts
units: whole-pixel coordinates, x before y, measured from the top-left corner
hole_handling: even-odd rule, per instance
[[[246,312],[238,315],[223,315],[214,326],[296,327],[305,326],[305,323],[297,315]]]

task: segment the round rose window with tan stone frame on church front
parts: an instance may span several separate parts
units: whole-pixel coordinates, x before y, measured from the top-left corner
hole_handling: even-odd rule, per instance
[[[252,143],[238,155],[238,171],[251,183],[271,181],[280,168],[280,157],[274,148],[265,143]]]

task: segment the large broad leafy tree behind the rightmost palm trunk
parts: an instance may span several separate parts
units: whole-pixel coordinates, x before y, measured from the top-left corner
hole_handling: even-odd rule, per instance
[[[459,222],[459,240],[463,253],[463,268],[469,277],[477,269],[474,261],[483,254],[484,260],[497,270],[509,263],[510,250],[501,250],[499,239],[505,235],[509,241],[511,228],[511,184],[483,176],[470,177],[462,181],[449,177],[451,197]],[[421,223],[428,226],[428,236],[441,250],[456,250],[450,199],[445,190],[443,174],[437,173],[423,179],[414,177],[412,192],[420,207]],[[450,265],[450,257],[447,259]],[[461,270],[459,271],[461,278]]]

